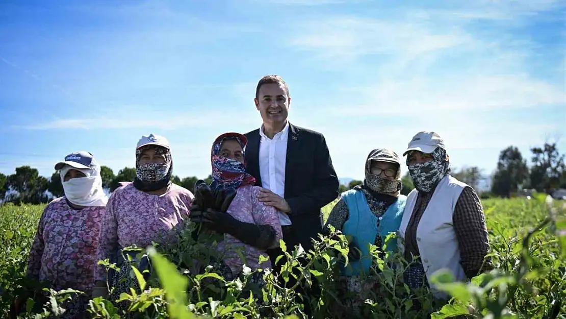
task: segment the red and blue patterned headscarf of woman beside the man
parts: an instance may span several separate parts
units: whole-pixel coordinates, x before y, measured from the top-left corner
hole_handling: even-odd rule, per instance
[[[222,134],[224,135],[224,134]],[[222,136],[221,135],[221,136]],[[218,155],[222,143],[228,139],[235,139],[242,146],[244,162],[225,158]],[[246,155],[243,152],[245,144],[242,139],[235,136],[219,137],[212,144],[211,164],[212,164],[212,184],[211,189],[215,189],[218,184],[223,184],[226,189],[237,189],[246,185],[254,185],[255,178],[246,173]]]

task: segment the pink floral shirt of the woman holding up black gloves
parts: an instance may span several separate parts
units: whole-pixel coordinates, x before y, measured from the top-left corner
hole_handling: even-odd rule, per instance
[[[257,225],[271,225],[277,233],[275,240],[275,246],[277,246],[279,240],[283,237],[279,216],[275,207],[264,205],[264,203],[258,201],[257,196],[259,189],[259,186],[243,186],[238,188],[238,193],[226,212],[241,222]],[[224,255],[224,262],[230,267],[234,274],[242,271],[243,264],[246,264],[246,266],[251,269],[258,269],[258,267],[265,269],[271,267],[269,260],[259,265],[259,256],[263,255],[268,257],[267,253],[254,246],[244,244],[242,241],[229,234],[226,234],[224,240],[218,244],[218,249]],[[240,253],[245,260],[242,260]]]

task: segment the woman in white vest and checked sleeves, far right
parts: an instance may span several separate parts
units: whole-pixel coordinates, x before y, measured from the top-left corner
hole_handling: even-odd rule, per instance
[[[399,241],[405,258],[419,256],[405,273],[411,288],[428,286],[440,299],[431,275],[448,269],[465,281],[490,267],[490,250],[482,203],[474,189],[449,175],[450,161],[440,136],[421,131],[409,142],[407,156],[415,189],[408,195]]]

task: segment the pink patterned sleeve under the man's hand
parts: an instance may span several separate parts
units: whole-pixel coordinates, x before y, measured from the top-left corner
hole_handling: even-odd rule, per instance
[[[267,206],[258,201],[258,193],[259,188],[254,188],[254,191],[251,192],[254,221],[260,228],[256,246],[275,248],[279,245],[279,240],[283,239],[279,214],[275,207]]]

